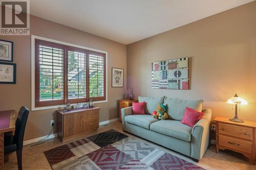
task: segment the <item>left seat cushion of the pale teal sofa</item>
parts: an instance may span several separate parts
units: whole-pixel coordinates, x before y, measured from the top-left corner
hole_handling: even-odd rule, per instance
[[[130,124],[140,126],[142,128],[150,129],[150,124],[157,122],[159,120],[153,118],[152,115],[148,114],[133,114],[125,116],[124,121]]]

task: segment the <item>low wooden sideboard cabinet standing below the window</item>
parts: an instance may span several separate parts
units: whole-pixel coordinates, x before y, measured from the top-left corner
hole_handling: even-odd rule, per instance
[[[57,110],[57,133],[62,141],[68,141],[99,128],[98,107],[74,109],[68,112]]]

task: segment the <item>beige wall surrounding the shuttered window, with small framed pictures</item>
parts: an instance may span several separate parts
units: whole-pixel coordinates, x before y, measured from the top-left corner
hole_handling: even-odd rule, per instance
[[[108,52],[108,103],[96,106],[101,108],[100,122],[118,117],[116,100],[122,98],[126,79],[123,88],[112,88],[111,67],[124,68],[126,78],[126,45],[35,16],[30,18],[30,33]],[[0,84],[0,110],[18,111],[20,106],[31,109],[31,36],[0,36],[0,39],[13,41],[14,63],[17,64],[16,84]],[[25,140],[47,135],[52,119],[56,119],[55,109],[30,112]]]

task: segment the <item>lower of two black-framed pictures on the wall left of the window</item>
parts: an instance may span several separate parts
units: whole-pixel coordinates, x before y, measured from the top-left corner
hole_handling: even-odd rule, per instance
[[[16,64],[0,62],[0,84],[16,84]]]

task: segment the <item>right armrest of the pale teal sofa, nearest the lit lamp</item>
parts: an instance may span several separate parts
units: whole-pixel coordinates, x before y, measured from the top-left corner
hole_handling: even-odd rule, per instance
[[[211,109],[203,109],[203,117],[196,123],[191,133],[190,157],[200,160],[209,145]]]

